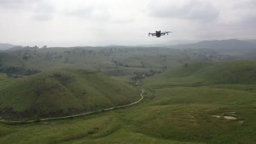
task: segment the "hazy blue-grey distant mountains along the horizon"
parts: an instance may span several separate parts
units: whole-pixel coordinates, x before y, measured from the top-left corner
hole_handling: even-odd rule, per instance
[[[221,53],[222,55],[231,56],[256,56],[256,39],[251,40],[205,40],[194,43],[196,41],[191,41],[191,44],[178,44],[178,45],[167,45],[167,44],[153,44],[153,45],[107,45],[105,47],[168,47],[174,49],[210,49]],[[23,49],[23,46],[17,46],[12,44],[1,44],[0,51],[15,51]],[[252,54],[253,53],[253,54]],[[255,54],[255,56],[253,56]],[[256,59],[256,57],[255,57]]]

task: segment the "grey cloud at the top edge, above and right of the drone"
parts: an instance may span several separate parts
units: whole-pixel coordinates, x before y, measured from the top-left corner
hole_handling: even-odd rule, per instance
[[[189,0],[182,5],[176,5],[170,3],[170,1],[166,1],[164,5],[158,5],[157,7],[152,5],[153,4],[150,4],[150,15],[153,17],[174,17],[189,20],[211,21],[216,19],[219,15],[219,11],[207,1]]]

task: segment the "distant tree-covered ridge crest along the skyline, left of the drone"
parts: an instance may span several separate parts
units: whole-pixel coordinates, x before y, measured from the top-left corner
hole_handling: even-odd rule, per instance
[[[45,48],[44,46],[42,48]],[[49,51],[48,51],[49,50]],[[59,59],[65,59],[66,57],[88,57],[88,56],[117,56],[122,55],[122,53],[127,52],[152,52],[152,53],[172,53],[177,52],[179,50],[169,49],[164,47],[108,47],[108,48],[100,48],[94,50],[88,50],[83,48],[75,48],[71,50],[61,51],[61,50],[52,50],[52,49],[38,49],[38,46],[29,47],[26,46],[24,49],[20,51],[16,51],[19,56],[22,56],[23,60],[28,60],[33,57],[43,58],[46,61],[56,61]],[[125,65],[124,65],[125,67]]]

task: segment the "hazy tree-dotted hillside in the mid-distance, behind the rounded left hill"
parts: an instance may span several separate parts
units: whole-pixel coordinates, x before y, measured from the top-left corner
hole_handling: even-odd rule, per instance
[[[2,53],[2,73],[13,73],[9,69],[54,70],[56,68],[85,68],[102,71],[109,76],[145,73],[144,69],[164,71],[178,65],[199,61],[223,61],[232,59],[212,50],[177,50],[163,47],[52,47]],[[10,68],[11,67],[11,68]],[[117,73],[117,69],[120,71]],[[148,71],[147,70],[147,73]]]

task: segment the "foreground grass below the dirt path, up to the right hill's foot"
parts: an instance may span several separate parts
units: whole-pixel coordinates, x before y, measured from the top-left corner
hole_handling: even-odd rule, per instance
[[[232,99],[229,98],[231,94],[234,94]],[[247,98],[244,99],[242,95]],[[1,124],[3,130],[0,143],[255,141],[255,93],[210,86],[190,87],[186,91],[182,87],[175,87],[155,89],[153,94],[147,91],[144,97],[142,103],[135,106],[79,118],[18,125]],[[234,116],[237,119],[228,120],[212,115]],[[238,120],[244,123],[240,124]]]

